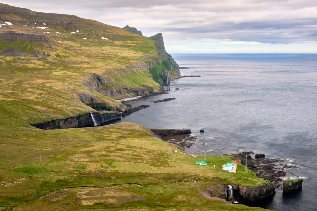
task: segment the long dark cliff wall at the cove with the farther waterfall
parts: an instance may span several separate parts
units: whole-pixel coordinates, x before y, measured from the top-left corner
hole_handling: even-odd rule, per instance
[[[93,116],[97,124],[99,124],[106,121],[120,119],[121,113],[108,111],[105,113],[93,113]],[[85,112],[83,114],[71,116],[64,119],[56,119],[46,122],[33,123],[31,125],[43,130],[51,130],[90,126],[94,125],[94,121],[91,117],[90,112]]]

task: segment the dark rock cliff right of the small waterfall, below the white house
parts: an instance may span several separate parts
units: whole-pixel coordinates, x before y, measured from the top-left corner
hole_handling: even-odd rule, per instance
[[[263,183],[258,186],[242,186],[235,184],[231,184],[231,186],[235,200],[243,204],[262,200],[275,194],[275,188],[271,182]]]

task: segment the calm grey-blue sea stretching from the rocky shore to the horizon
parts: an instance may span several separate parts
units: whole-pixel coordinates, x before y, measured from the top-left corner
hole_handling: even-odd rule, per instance
[[[261,204],[274,210],[316,210],[317,54],[176,54],[182,75],[169,94],[129,101],[150,107],[115,122],[148,128],[191,128],[188,153],[222,155],[246,150],[286,158],[302,177],[300,193]],[[179,88],[180,90],[175,90]],[[152,100],[176,100],[153,103]],[[204,133],[199,133],[204,129]],[[260,206],[260,204],[259,204]]]

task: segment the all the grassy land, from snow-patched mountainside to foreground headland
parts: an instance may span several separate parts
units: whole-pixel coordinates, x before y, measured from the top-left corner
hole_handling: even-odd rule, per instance
[[[30,126],[92,111],[86,101],[123,108],[114,98],[161,91],[149,72],[164,68],[154,40],[5,4],[0,17],[0,210],[260,209],[212,198],[206,188],[267,181],[240,164],[236,174],[199,166],[141,125]],[[219,165],[232,161],[218,157]]]

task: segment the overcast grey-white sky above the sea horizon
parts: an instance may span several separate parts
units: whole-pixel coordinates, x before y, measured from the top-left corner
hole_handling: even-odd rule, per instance
[[[168,53],[317,53],[317,0],[1,0],[162,33]]]

